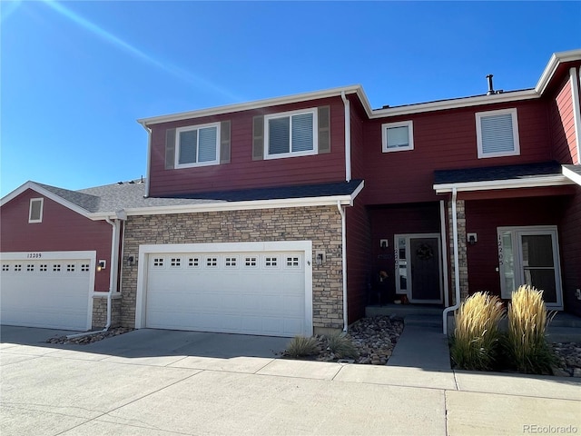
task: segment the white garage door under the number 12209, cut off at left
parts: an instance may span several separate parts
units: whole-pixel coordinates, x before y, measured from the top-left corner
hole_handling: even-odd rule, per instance
[[[41,253],[34,254],[40,259],[6,259],[3,254],[0,322],[25,327],[89,329],[94,260],[61,256],[50,259]]]

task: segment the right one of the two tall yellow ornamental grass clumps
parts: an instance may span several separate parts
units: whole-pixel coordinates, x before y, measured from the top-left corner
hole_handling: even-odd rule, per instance
[[[555,362],[547,342],[547,326],[555,313],[547,314],[543,292],[520,286],[508,303],[507,354],[518,372],[550,373]]]

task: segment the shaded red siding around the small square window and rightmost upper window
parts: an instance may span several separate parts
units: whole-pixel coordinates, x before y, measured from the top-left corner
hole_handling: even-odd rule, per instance
[[[475,114],[511,107],[517,107],[520,155],[478,159]],[[382,153],[381,124],[406,120],[413,121],[414,150]],[[365,156],[366,198],[369,204],[435,201],[434,170],[550,160],[547,123],[547,106],[540,101],[370,120],[364,145],[355,152]]]

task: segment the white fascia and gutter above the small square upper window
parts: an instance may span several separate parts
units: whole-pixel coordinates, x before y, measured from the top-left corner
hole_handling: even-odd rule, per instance
[[[540,95],[534,89],[524,91],[507,92],[503,94],[477,95],[475,97],[457,98],[438,102],[409,104],[407,106],[389,107],[386,109],[376,109],[372,111],[369,118],[383,118],[387,116],[421,114],[424,112],[444,111],[448,109],[458,109],[462,107],[479,106],[483,104],[497,104],[507,102],[518,102],[521,100],[531,100]]]

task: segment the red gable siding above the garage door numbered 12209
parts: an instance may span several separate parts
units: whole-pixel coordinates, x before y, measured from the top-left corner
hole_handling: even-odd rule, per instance
[[[28,223],[30,199],[40,197],[42,195],[29,189],[2,206],[0,251],[96,251],[97,260],[106,260],[108,267],[103,272],[95,273],[94,291],[108,291],[111,272],[111,225],[89,220],[46,197],[43,222]]]

